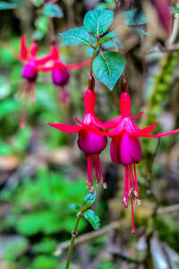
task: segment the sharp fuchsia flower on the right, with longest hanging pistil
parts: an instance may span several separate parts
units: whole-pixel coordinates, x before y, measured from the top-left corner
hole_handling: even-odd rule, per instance
[[[134,233],[133,195],[135,204],[141,204],[135,168],[135,164],[141,161],[141,142],[139,137],[161,137],[178,133],[179,129],[160,134],[150,134],[155,128],[157,121],[152,126],[140,129],[132,120],[131,99],[127,91],[121,93],[119,105],[121,117],[114,119],[115,128],[106,134],[112,138],[110,145],[112,161],[124,165],[124,196],[122,201],[124,207],[127,208],[128,199],[131,198],[132,233]]]

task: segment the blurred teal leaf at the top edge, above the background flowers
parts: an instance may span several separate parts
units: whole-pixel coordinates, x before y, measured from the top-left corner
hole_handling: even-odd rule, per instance
[[[64,16],[62,9],[57,4],[45,4],[42,13],[50,18],[62,18]]]

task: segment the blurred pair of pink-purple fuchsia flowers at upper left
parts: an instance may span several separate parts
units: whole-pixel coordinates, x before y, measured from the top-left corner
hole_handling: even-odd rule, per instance
[[[65,65],[59,55],[58,48],[55,45],[55,41],[51,42],[50,52],[47,56],[38,57],[38,43],[37,40],[33,40],[30,45],[30,48],[26,45],[26,36],[21,37],[20,41],[20,54],[16,53],[13,48],[3,42],[5,48],[10,50],[23,65],[21,71],[21,77],[25,79],[25,84],[22,82],[20,88],[22,88],[23,95],[26,99],[31,100],[31,104],[35,101],[35,85],[38,78],[38,73],[51,72],[52,82],[55,86],[59,87],[60,90],[60,101],[64,103],[65,106],[69,105],[69,96],[68,92],[65,90],[65,85],[69,82],[70,74],[69,70],[81,68],[85,65],[90,64],[90,60],[74,64],[74,65]],[[27,108],[24,109],[21,127],[24,127],[26,124],[26,114]]]

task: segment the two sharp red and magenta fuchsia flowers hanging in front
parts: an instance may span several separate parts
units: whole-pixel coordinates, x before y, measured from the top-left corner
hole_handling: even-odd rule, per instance
[[[124,207],[128,207],[128,199],[131,198],[132,204],[132,233],[135,232],[134,217],[133,217],[133,196],[136,204],[141,204],[139,187],[137,180],[137,173],[135,164],[141,161],[141,142],[140,137],[161,137],[165,135],[175,134],[179,129],[160,133],[150,134],[157,121],[152,125],[140,129],[135,125],[133,119],[139,117],[142,113],[132,117],[131,116],[131,99],[127,91],[127,82],[124,81],[124,87],[120,99],[119,106],[121,115],[115,117],[106,123],[102,123],[98,117],[95,116],[95,91],[91,86],[84,95],[85,115],[80,121],[75,117],[79,123],[78,126],[65,124],[52,124],[53,126],[64,133],[78,134],[78,146],[87,157],[87,187],[93,187],[93,162],[96,172],[97,183],[101,182],[103,187],[107,187],[103,171],[101,168],[99,154],[107,146],[107,136],[111,138],[110,155],[112,161],[124,165]],[[112,129],[111,131],[109,131]]]

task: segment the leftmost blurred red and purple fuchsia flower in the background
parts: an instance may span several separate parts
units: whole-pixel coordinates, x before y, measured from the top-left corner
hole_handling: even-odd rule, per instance
[[[23,90],[23,95],[25,99],[30,99],[33,104],[35,101],[35,85],[38,77],[38,65],[44,65],[51,59],[51,56],[44,56],[41,58],[37,58],[38,53],[38,44],[37,41],[34,40],[28,49],[26,46],[26,36],[21,37],[20,42],[20,54],[16,53],[13,48],[10,48],[9,45],[3,42],[5,48],[10,50],[19,61],[21,61],[23,67],[21,72],[21,77],[26,80],[25,84],[22,82],[20,84],[20,89]],[[24,109],[21,118],[21,128],[26,124],[26,115],[27,108]]]

